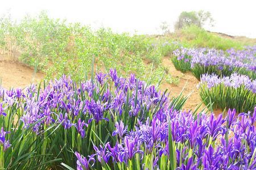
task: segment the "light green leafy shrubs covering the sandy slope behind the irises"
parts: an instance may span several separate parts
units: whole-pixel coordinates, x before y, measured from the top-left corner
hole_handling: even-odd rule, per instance
[[[115,67],[119,74],[137,73],[146,80],[152,64],[159,70],[162,57],[175,49],[172,40],[156,41],[154,37],[117,34],[105,28],[93,31],[79,23],[51,19],[46,12],[35,18],[27,16],[19,23],[2,18],[0,39],[3,52],[44,71],[48,79],[63,74],[82,79],[90,73],[88,61],[95,58],[100,71]],[[157,77],[154,83],[159,81]]]

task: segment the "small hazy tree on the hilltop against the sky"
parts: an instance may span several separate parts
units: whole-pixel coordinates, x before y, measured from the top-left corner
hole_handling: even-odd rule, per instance
[[[204,27],[207,23],[213,26],[213,18],[209,11],[183,11],[179,15],[177,22],[175,23],[175,29],[180,29],[190,25],[196,25],[197,27]]]

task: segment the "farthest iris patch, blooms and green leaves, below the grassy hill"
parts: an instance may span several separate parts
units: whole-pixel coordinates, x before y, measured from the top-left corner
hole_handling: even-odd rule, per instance
[[[215,73],[229,76],[240,73],[256,79],[256,46],[245,46],[243,50],[226,51],[209,48],[179,48],[174,51],[172,62],[177,70],[191,70],[197,79],[201,74]],[[188,64],[189,63],[189,64]]]

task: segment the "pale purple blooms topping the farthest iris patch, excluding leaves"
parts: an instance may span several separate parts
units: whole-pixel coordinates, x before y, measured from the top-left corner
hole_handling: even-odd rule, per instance
[[[196,65],[216,66],[218,70],[226,67],[229,70],[244,68],[256,72],[256,46],[246,46],[243,50],[229,49],[226,51],[209,48],[180,48],[174,51],[178,60]]]

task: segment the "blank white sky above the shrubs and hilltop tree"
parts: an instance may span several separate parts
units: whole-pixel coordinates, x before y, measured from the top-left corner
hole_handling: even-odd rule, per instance
[[[53,18],[81,22],[92,27],[110,27],[116,32],[159,33],[162,22],[174,25],[182,11],[210,11],[215,27],[210,31],[256,38],[256,1],[254,0],[6,0],[0,1],[0,14],[14,19],[46,10]]]

